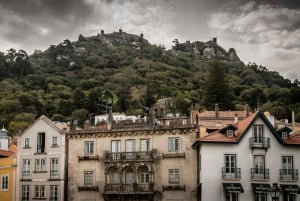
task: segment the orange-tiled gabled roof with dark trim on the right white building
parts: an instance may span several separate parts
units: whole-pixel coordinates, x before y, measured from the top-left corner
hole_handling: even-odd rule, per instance
[[[200,143],[204,143],[204,142],[238,143],[245,136],[247,131],[252,126],[253,122],[259,117],[268,126],[270,131],[276,137],[276,139],[280,143],[284,144],[284,141],[279,137],[279,135],[276,133],[274,127],[271,125],[269,120],[266,118],[266,116],[261,111],[255,112],[255,113],[251,114],[249,117],[247,117],[244,120],[235,124],[235,127],[237,128],[237,130],[234,132],[234,137],[227,137],[226,135],[224,135],[221,132],[222,129],[224,129],[224,128],[222,128],[222,129],[212,132],[211,134],[208,134],[202,138],[197,139],[197,141]]]

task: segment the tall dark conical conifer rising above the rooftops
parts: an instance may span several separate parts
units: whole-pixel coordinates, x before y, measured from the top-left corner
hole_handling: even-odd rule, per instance
[[[218,104],[220,109],[232,110],[234,109],[233,100],[234,97],[225,81],[224,69],[220,63],[212,63],[208,68],[204,87],[204,106],[213,109],[214,105]]]

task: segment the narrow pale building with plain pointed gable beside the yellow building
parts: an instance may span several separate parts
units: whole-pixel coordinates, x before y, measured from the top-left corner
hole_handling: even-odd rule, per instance
[[[65,133],[41,116],[18,136],[16,200],[64,200]]]

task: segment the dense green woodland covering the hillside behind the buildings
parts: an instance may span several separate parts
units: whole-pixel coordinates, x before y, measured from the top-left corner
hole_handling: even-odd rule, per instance
[[[178,44],[178,40],[176,41]],[[176,47],[176,46],[175,46]],[[53,121],[78,120],[105,112],[148,115],[157,99],[171,97],[170,112],[190,109],[270,111],[300,121],[300,83],[255,63],[205,58],[166,50],[141,36],[114,32],[66,39],[45,51],[0,52],[0,123],[11,135],[44,114]],[[99,101],[100,100],[100,101]]]

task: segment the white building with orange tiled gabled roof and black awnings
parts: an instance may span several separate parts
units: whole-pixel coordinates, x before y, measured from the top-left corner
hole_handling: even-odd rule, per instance
[[[299,145],[299,134],[276,132],[262,112],[200,137],[198,200],[267,201],[273,183],[279,200],[300,200]]]

